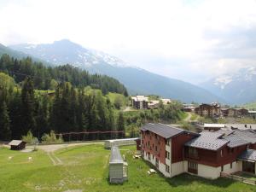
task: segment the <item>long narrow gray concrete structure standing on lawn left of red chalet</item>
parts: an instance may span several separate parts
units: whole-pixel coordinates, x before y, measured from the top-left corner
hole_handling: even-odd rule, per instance
[[[111,148],[109,160],[109,182],[123,183],[127,180],[128,164],[123,160],[118,147]]]

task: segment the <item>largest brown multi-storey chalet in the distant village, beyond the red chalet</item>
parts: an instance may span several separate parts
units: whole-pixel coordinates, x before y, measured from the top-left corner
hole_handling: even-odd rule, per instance
[[[195,108],[195,113],[201,116],[218,117],[220,116],[220,105],[216,102],[211,104],[202,103],[198,108]]]

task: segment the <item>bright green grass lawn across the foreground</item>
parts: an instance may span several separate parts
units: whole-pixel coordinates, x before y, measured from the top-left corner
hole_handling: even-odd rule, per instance
[[[120,148],[128,161],[128,181],[108,183],[108,156],[110,151],[99,144],[64,148],[55,152],[62,165],[53,166],[43,151],[21,153],[0,149],[0,191],[219,191],[250,192],[256,187],[226,178],[211,181],[183,174],[166,178],[160,173],[148,176],[151,165],[131,158],[135,147]],[[9,157],[12,159],[9,160]],[[32,157],[29,161],[28,157]]]

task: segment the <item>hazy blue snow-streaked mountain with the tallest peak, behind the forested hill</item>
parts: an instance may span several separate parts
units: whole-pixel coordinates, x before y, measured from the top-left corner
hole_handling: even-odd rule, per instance
[[[17,44],[10,48],[53,65],[69,63],[90,73],[107,74],[125,84],[130,94],[155,94],[183,102],[224,102],[199,86],[131,67],[117,57],[85,49],[67,39],[55,41],[53,44]]]

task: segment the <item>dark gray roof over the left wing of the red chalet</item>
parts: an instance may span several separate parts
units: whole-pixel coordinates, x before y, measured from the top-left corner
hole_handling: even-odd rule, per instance
[[[163,125],[163,124],[147,124],[141,128],[141,131],[151,131],[159,135],[160,137],[164,137],[164,138],[171,138],[183,132],[189,132],[189,131],[179,129],[177,127],[173,127],[170,125]],[[196,133],[193,133],[193,132],[190,132],[190,133],[197,135]]]

